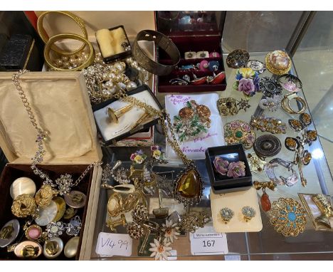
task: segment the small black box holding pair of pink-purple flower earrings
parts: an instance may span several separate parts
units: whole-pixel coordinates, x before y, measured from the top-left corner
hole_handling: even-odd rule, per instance
[[[213,164],[216,156],[226,159],[228,162],[244,162],[245,177],[232,178],[227,177],[227,175],[223,176],[222,174],[216,172]],[[243,191],[253,185],[248,160],[246,159],[243,145],[241,144],[208,147],[206,149],[206,167],[211,182],[211,188],[216,194]]]

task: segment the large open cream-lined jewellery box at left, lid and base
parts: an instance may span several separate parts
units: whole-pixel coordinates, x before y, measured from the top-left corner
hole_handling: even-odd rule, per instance
[[[30,168],[31,157],[37,150],[36,130],[31,125],[18,90],[11,80],[12,75],[9,72],[0,73],[0,147],[9,161],[0,178],[0,190],[3,193],[0,199],[1,227],[9,219],[15,218],[11,214],[12,199],[9,194],[14,179],[30,177],[37,189],[42,184],[41,178],[33,174]],[[83,74],[30,72],[21,75],[20,83],[38,126],[50,132],[51,141],[46,141],[46,156],[39,167],[53,180],[65,173],[73,174],[75,180],[89,164],[102,158]],[[93,199],[95,195],[99,195],[101,176],[101,167],[94,167],[78,187],[73,187],[87,195],[85,207],[78,211],[82,229],[76,259],[83,259],[90,235],[90,216],[97,212]],[[23,219],[18,220],[23,227]],[[18,237],[21,235],[22,231]],[[64,245],[65,242],[64,240]],[[6,253],[5,248],[0,249],[0,258],[11,259],[16,256],[14,253]],[[42,254],[37,260],[43,258]],[[56,259],[69,260],[63,253]]]

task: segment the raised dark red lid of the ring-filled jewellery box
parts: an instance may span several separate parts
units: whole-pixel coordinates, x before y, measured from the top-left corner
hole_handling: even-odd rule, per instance
[[[222,36],[226,11],[156,11],[157,31],[166,36]]]

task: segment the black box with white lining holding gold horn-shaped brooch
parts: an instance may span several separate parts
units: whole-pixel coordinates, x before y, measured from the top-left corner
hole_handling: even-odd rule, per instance
[[[137,100],[152,106],[156,110],[162,110],[162,105],[147,85],[130,90],[127,95],[137,98]],[[145,115],[144,109],[135,105],[132,108],[127,108],[128,105],[131,104],[120,101],[117,98],[93,105],[97,130],[100,132],[100,136],[106,146],[115,145],[117,141],[130,137],[135,133],[143,132],[157,124],[159,116],[149,117],[147,114]],[[116,115],[115,118],[110,118],[108,114],[109,109]],[[112,114],[112,116],[114,115]]]

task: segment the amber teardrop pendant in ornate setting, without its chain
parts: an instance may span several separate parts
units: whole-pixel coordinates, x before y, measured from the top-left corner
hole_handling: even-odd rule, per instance
[[[176,178],[174,198],[184,204],[198,204],[202,195],[201,175],[195,167],[188,167]]]

